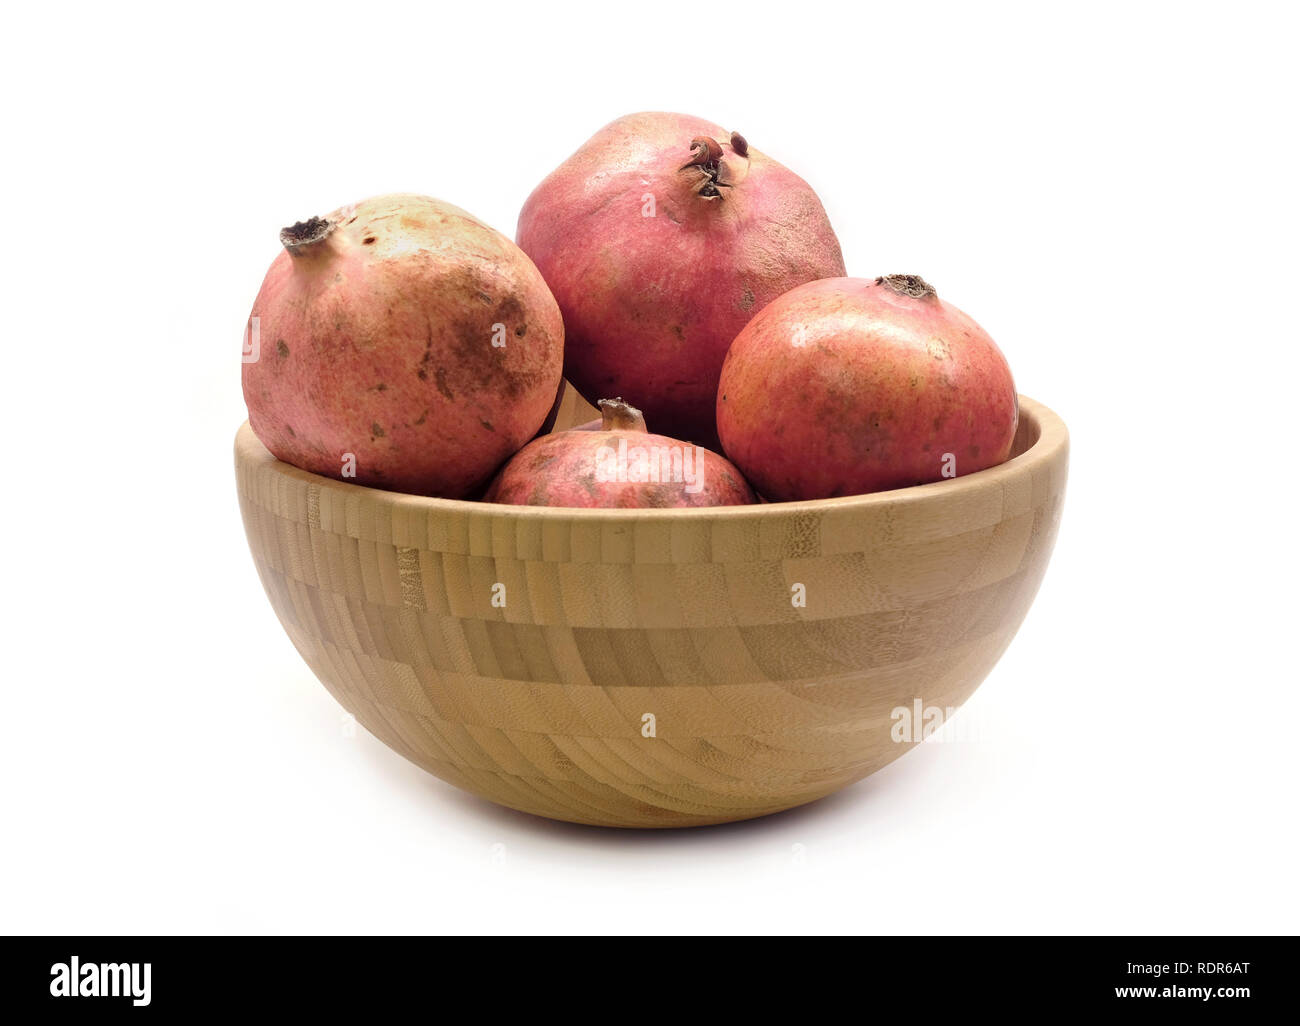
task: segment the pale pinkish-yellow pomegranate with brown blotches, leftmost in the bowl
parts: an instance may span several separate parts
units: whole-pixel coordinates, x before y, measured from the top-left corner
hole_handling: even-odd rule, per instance
[[[387,195],[282,242],[252,307],[260,352],[243,365],[248,420],[278,459],[462,498],[542,427],[564,325],[499,231],[428,196]]]

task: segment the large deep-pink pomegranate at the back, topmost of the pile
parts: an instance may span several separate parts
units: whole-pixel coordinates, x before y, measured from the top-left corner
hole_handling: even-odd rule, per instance
[[[684,168],[702,138],[716,165]],[[582,397],[624,395],[659,430],[714,447],[718,373],[740,329],[794,286],[845,273],[807,182],[688,114],[601,129],[528,198],[516,238],[564,313],[564,373]]]

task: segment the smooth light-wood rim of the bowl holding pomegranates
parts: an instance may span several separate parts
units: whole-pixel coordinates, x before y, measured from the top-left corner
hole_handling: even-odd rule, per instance
[[[402,507],[411,511],[463,514],[465,516],[511,518],[520,520],[637,520],[667,521],[682,518],[736,520],[775,514],[800,515],[827,511],[867,510],[880,506],[901,506],[922,502],[944,502],[967,495],[972,492],[1000,485],[1010,479],[1035,473],[1053,460],[1065,455],[1070,436],[1065,421],[1040,402],[1019,395],[1020,420],[1028,419],[1039,429],[1039,437],[1020,453],[1005,463],[983,471],[966,473],[946,481],[931,481],[924,485],[910,485],[887,492],[871,492],[864,495],[840,495],[828,499],[798,499],[794,502],[758,502],[748,506],[692,506],[692,507],[634,507],[634,508],[582,508],[577,506],[512,506],[500,502],[476,499],[447,499],[434,495],[415,495],[407,492],[389,492],[334,477],[312,473],[289,463],[282,463],[270,454],[254,434],[247,420],[235,433],[235,466],[248,466],[252,469],[270,469],[274,473],[313,484],[322,489],[365,497],[370,502]],[[1018,428],[1019,430],[1019,428]]]

